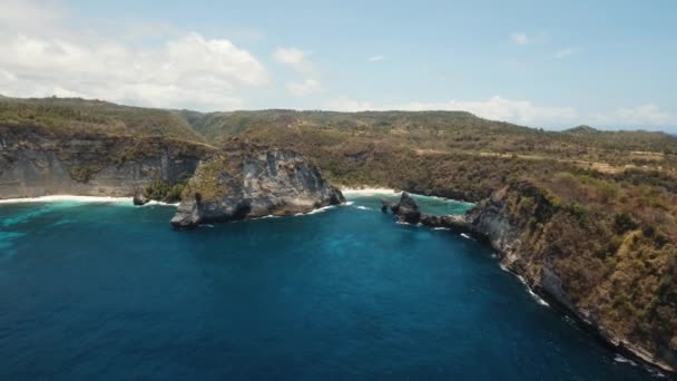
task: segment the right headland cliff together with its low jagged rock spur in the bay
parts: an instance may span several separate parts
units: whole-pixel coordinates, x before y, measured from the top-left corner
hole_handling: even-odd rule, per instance
[[[602,236],[605,232],[596,231],[597,221],[583,218],[576,205],[567,205],[529,182],[518,182],[494,192],[465,215],[433,216],[418,212],[416,218],[415,213],[410,212],[418,211],[412,203],[415,204],[413,198],[403,194],[400,203],[393,205],[391,209],[399,221],[444,227],[487,242],[497,251],[502,264],[521,276],[533,292],[589,328],[617,351],[663,370],[674,372],[677,369],[677,326],[675,315],[670,314],[677,301],[675,293],[669,291],[677,287],[670,275],[673,270],[666,266],[648,270],[654,274],[651,276],[663,279],[659,284],[664,291],[654,291],[656,294],[651,295],[650,291],[642,290],[644,297],[653,299],[635,301],[619,315],[618,301],[627,300],[627,296],[618,292],[629,290],[618,280],[634,275],[624,272],[621,258],[615,257],[611,265],[598,260],[608,247]],[[628,233],[628,236],[635,240],[632,234]],[[624,251],[619,248],[619,253],[605,255],[619,256]],[[635,276],[646,279],[647,275]],[[671,286],[669,282],[673,282]]]

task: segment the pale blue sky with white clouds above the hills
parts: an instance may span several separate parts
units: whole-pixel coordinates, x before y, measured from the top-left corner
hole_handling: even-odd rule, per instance
[[[677,133],[677,1],[0,0],[0,94]]]

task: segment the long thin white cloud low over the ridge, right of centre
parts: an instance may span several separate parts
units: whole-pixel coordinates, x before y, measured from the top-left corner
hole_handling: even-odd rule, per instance
[[[512,100],[502,97],[491,97],[487,100],[448,100],[441,102],[412,101],[385,107],[373,107],[370,102],[362,102],[350,98],[341,98],[326,105],[330,109],[343,111],[359,110],[449,110],[469,111],[479,117],[492,120],[507,120],[511,123],[541,126],[553,120],[566,125],[578,118],[578,111],[572,107],[537,106],[528,100]]]

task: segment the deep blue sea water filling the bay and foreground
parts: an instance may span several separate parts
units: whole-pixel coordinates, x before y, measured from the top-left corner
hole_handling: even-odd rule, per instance
[[[0,380],[650,378],[379,198],[190,232],[168,206],[0,205]]]

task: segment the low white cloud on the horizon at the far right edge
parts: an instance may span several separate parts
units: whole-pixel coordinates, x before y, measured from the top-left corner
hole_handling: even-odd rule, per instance
[[[675,115],[661,110],[654,104],[593,114],[590,119],[593,124],[611,127],[667,126],[670,124],[677,124],[677,117]]]

